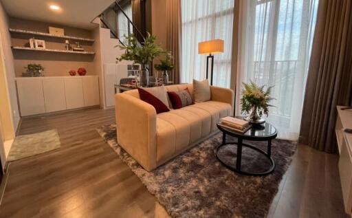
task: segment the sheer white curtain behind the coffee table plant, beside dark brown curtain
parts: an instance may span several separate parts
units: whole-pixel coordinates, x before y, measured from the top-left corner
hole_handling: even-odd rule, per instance
[[[274,85],[266,119],[278,137],[297,140],[318,0],[241,2],[236,114],[241,113],[242,82]]]

